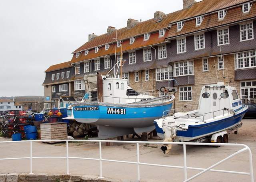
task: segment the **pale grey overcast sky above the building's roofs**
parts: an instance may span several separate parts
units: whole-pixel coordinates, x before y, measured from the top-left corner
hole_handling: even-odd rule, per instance
[[[70,61],[88,34],[180,9],[182,0],[0,0],[0,96],[44,96],[44,71]]]

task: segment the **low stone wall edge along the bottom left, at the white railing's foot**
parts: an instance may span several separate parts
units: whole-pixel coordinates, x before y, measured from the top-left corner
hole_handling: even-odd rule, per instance
[[[86,175],[59,175],[59,174],[28,174],[10,173],[0,174],[0,182],[137,182],[136,180],[114,180],[110,178],[98,178],[98,176]]]

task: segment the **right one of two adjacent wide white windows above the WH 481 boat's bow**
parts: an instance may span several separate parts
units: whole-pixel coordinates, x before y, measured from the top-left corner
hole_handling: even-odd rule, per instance
[[[174,63],[174,75],[194,75],[194,61],[182,61]]]

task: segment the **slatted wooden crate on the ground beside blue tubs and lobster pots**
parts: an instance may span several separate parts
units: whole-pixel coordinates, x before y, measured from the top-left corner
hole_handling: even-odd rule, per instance
[[[66,140],[68,138],[67,123],[64,122],[40,124],[40,130],[41,140]]]

